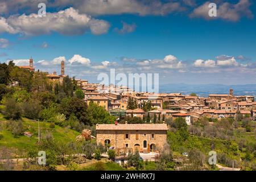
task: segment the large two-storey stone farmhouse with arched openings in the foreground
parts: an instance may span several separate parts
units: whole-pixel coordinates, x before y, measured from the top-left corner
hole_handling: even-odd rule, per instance
[[[161,150],[167,142],[167,125],[102,124],[96,125],[97,143],[114,148],[117,155],[138,150],[147,154]]]

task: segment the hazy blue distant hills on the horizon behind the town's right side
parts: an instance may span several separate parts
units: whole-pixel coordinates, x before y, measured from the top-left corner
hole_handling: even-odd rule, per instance
[[[250,95],[256,96],[256,84],[247,85],[222,85],[222,84],[164,84],[159,85],[159,92],[181,92],[190,94],[195,92],[199,96],[207,97],[209,94],[228,94],[229,89],[234,90],[234,95]]]

